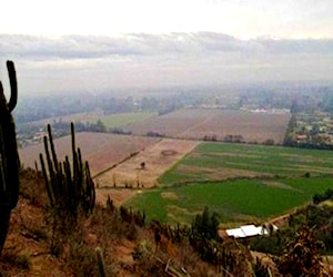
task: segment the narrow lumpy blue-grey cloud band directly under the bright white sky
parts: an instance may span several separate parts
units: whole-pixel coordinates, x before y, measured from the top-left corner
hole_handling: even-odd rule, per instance
[[[213,32],[112,37],[0,35],[0,54],[30,59],[94,59],[110,55],[198,54],[212,52],[333,53],[333,40],[240,40]]]

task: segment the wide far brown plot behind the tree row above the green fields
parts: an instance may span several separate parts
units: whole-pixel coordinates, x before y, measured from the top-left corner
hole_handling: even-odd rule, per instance
[[[228,135],[241,136],[244,142],[282,143],[290,114],[254,113],[250,111],[183,109],[128,126],[134,134],[155,132],[180,138],[202,140]]]

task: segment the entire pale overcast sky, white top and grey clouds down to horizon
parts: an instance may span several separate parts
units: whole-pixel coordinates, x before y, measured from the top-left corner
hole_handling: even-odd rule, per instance
[[[10,0],[0,78],[22,93],[332,80],[331,0]]]

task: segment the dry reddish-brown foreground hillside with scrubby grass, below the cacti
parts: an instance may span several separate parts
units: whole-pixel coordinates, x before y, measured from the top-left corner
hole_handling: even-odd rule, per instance
[[[43,179],[21,173],[21,195],[10,220],[0,258],[0,276],[99,276],[95,248],[102,250],[107,276],[215,276],[188,243],[173,244],[131,213],[95,206],[89,219],[50,254],[51,217]],[[168,265],[168,269],[165,269]],[[183,269],[182,269],[183,268]],[[189,275],[185,275],[184,273]]]

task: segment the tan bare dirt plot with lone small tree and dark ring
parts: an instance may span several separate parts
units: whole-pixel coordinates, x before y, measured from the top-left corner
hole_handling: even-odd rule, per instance
[[[158,184],[158,178],[200,142],[164,138],[141,151],[138,155],[94,178],[98,201],[104,203],[108,195],[121,205],[134,193]],[[144,163],[144,166],[142,165]],[[127,188],[138,188],[127,189]]]

